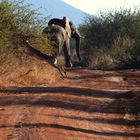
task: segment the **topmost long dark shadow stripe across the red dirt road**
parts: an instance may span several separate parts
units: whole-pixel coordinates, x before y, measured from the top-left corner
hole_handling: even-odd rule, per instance
[[[2,93],[12,93],[12,94],[44,94],[44,93],[65,93],[77,96],[91,96],[98,98],[110,98],[110,99],[132,99],[136,94],[132,91],[104,91],[104,90],[94,90],[91,88],[78,88],[78,87],[9,87],[0,88]]]

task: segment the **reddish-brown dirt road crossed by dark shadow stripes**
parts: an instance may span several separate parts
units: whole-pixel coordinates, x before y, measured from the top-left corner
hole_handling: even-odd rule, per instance
[[[0,140],[138,140],[140,71],[69,70],[39,87],[0,88]]]

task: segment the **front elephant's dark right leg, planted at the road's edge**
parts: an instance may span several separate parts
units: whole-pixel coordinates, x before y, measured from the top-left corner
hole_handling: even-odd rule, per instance
[[[69,41],[67,41],[64,44],[64,57],[65,57],[65,67],[72,67],[72,63],[70,60],[70,44]]]

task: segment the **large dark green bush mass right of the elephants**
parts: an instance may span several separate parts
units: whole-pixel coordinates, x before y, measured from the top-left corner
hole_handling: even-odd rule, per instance
[[[140,10],[88,16],[80,31],[83,62],[97,69],[140,68]]]

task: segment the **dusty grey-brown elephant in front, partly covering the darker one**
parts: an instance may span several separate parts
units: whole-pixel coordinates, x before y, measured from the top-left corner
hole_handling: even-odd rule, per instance
[[[72,63],[70,60],[70,35],[67,34],[66,30],[59,26],[52,24],[46,27],[43,32],[48,36],[53,46],[53,57],[55,58],[55,64],[57,64],[57,57],[60,55],[62,50],[64,51],[65,67],[71,67]]]

